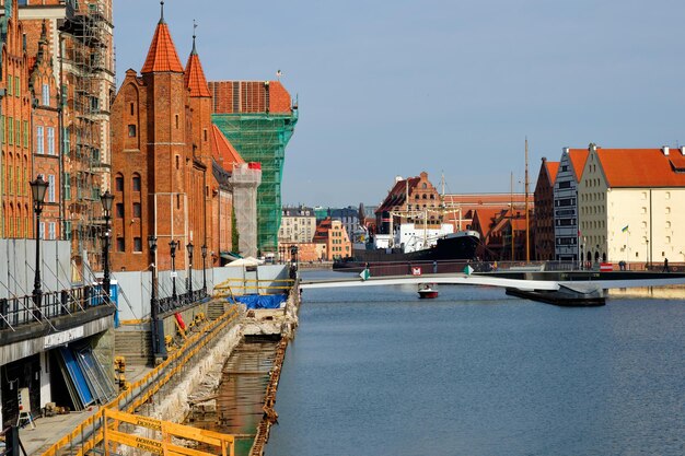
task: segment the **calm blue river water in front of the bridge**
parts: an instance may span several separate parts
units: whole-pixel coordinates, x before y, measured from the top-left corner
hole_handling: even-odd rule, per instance
[[[309,290],[300,318],[268,456],[685,454],[683,301]]]

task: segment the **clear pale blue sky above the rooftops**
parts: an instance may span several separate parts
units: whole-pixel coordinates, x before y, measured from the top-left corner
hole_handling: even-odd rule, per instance
[[[114,0],[117,89],[160,3]],[[682,0],[167,0],[182,62],[298,98],[283,204],[378,204],[422,171],[446,192],[530,190],[564,147],[685,143]]]

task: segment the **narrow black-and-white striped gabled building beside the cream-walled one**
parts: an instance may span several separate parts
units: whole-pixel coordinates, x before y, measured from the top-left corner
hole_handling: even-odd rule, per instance
[[[554,185],[555,259],[558,261],[578,261],[580,258],[582,233],[578,213],[578,182],[587,160],[587,149],[569,148],[564,148],[559,160]]]

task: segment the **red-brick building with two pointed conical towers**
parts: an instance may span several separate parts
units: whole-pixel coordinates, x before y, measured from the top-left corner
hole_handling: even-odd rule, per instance
[[[113,268],[146,269],[153,235],[155,264],[167,270],[172,241],[181,247],[212,242],[207,219],[213,173],[211,98],[199,58],[194,46],[183,68],[163,10],[140,73],[126,72],[112,106]],[[186,264],[187,255],[176,255],[176,269]]]

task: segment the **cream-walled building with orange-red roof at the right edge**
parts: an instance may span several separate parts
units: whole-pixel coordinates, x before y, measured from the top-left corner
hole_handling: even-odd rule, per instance
[[[585,260],[685,262],[685,148],[590,144],[578,201]]]

